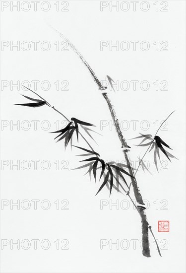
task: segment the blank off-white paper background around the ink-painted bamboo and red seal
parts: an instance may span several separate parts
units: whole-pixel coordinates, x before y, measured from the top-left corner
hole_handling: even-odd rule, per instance
[[[185,272],[185,1],[0,1],[1,5],[1,272]],[[144,158],[137,185],[148,222],[151,258],[142,255],[141,222],[128,197],[77,168],[83,151],[56,134],[65,119],[20,94],[37,92],[69,120],[94,124],[87,135],[108,161],[124,162],[102,90],[79,57],[107,84],[125,139],[158,132],[179,160]],[[112,90],[106,75],[115,82]],[[106,81],[106,82],[104,82]],[[146,147],[127,140],[133,164]],[[89,148],[76,135],[73,144]],[[99,176],[99,175],[98,175]],[[127,181],[128,180],[127,178]],[[102,181],[103,182],[103,181]],[[131,188],[132,190],[132,188]],[[133,195],[132,199],[135,199]],[[17,205],[16,205],[17,204]],[[158,232],[158,221],[170,223]]]

